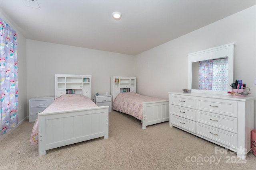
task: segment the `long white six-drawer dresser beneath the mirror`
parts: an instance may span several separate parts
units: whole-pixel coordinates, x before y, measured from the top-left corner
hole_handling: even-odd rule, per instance
[[[216,143],[246,158],[252,149],[254,97],[169,93],[170,127]]]

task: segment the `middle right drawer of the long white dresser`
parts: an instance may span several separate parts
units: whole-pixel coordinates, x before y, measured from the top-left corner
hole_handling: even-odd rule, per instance
[[[196,121],[226,131],[237,133],[237,118],[210,113],[206,111],[196,111]]]

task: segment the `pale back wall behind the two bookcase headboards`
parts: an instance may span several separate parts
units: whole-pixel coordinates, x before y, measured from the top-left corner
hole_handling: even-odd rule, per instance
[[[92,98],[111,76],[134,76],[134,56],[27,39],[28,99],[55,96],[54,74],[92,75]]]

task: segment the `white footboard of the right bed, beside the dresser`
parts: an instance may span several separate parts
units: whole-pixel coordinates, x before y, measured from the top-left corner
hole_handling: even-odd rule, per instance
[[[169,100],[143,102],[142,129],[146,126],[169,121]]]

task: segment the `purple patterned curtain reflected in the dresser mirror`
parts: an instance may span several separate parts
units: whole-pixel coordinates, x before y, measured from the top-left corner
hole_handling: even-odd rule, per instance
[[[212,90],[212,60],[199,61],[198,89]]]

